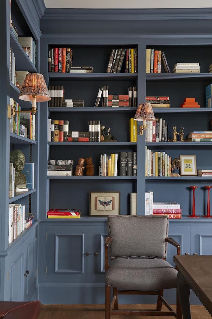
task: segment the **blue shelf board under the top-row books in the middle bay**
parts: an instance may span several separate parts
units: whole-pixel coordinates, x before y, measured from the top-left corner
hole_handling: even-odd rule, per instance
[[[138,77],[137,73],[48,73],[51,79],[60,80],[134,80]]]

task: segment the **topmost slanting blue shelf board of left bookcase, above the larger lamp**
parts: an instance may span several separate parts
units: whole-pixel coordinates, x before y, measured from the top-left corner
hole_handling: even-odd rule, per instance
[[[16,70],[23,71],[27,70],[29,72],[37,72],[36,67],[30,61],[24,50],[22,49],[20,43],[16,39],[16,37],[10,31],[10,47],[12,48],[14,55],[15,55],[15,63],[16,63]]]

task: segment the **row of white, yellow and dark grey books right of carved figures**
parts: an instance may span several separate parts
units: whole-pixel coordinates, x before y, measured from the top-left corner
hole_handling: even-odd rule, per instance
[[[137,176],[137,152],[100,154],[99,176]]]

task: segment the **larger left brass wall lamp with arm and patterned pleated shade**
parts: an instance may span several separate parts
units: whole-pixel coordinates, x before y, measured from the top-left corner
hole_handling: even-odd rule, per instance
[[[22,85],[20,94],[18,96],[20,100],[32,101],[32,108],[29,111],[16,111],[13,105],[7,106],[7,117],[11,119],[11,116],[15,116],[16,113],[33,113],[35,114],[36,100],[37,102],[45,102],[51,100],[49,91],[47,89],[44,76],[40,73],[28,73]]]

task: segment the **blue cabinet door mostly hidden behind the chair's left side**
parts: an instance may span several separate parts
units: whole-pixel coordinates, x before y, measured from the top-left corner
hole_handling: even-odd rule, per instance
[[[106,225],[92,226],[92,282],[105,282],[106,237],[108,237]]]

